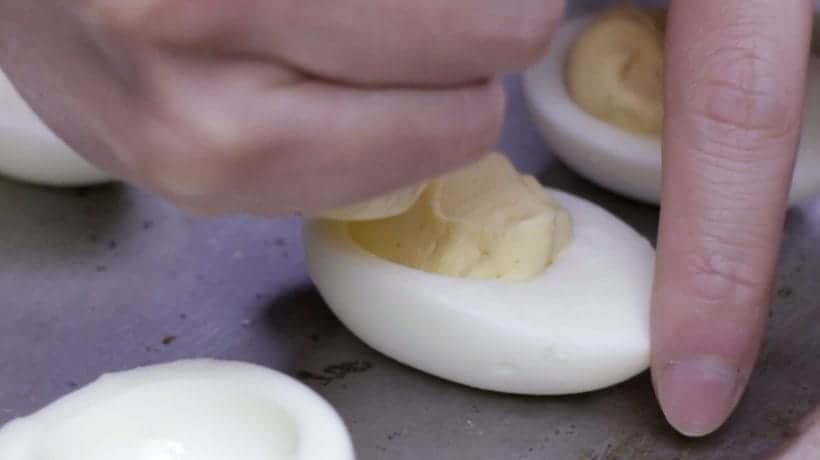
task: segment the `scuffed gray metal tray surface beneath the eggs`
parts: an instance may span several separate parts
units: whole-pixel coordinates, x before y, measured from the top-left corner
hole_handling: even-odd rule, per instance
[[[654,240],[657,210],[568,172],[530,124],[517,79],[501,146],[549,185]],[[369,349],[307,280],[300,222],[200,219],[140,191],[0,180],[0,424],[102,372],[179,358],[246,360],[300,376],[347,421],[362,460],[762,458],[820,402],[820,202],[789,213],[759,372],[728,426],[667,428],[649,379],[588,395],[464,388]]]

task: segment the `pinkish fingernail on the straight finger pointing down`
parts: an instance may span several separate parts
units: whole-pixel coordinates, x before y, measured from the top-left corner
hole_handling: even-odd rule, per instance
[[[720,428],[741,390],[738,369],[717,356],[671,361],[657,389],[666,419],[686,436],[705,436]]]

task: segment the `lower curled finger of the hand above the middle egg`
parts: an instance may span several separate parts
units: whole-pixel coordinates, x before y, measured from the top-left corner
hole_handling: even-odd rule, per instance
[[[131,176],[208,213],[315,212],[477,158],[495,142],[504,112],[497,82],[374,91],[302,82],[247,95],[242,88],[198,88],[209,95],[201,104],[182,90],[176,96],[185,104],[169,98],[186,112],[146,124],[140,138],[158,144],[127,162]]]

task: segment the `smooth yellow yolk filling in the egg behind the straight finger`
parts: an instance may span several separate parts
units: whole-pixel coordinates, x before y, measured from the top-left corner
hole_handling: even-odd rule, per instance
[[[594,19],[567,58],[564,77],[575,103],[622,130],[660,134],[664,17],[618,5]]]

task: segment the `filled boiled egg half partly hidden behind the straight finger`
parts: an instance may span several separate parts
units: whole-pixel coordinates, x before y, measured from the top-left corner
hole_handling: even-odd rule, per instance
[[[617,5],[563,25],[524,74],[547,144],[598,185],[657,204],[661,197],[663,42],[660,10]],[[811,58],[804,129],[789,200],[820,193],[820,60]]]

